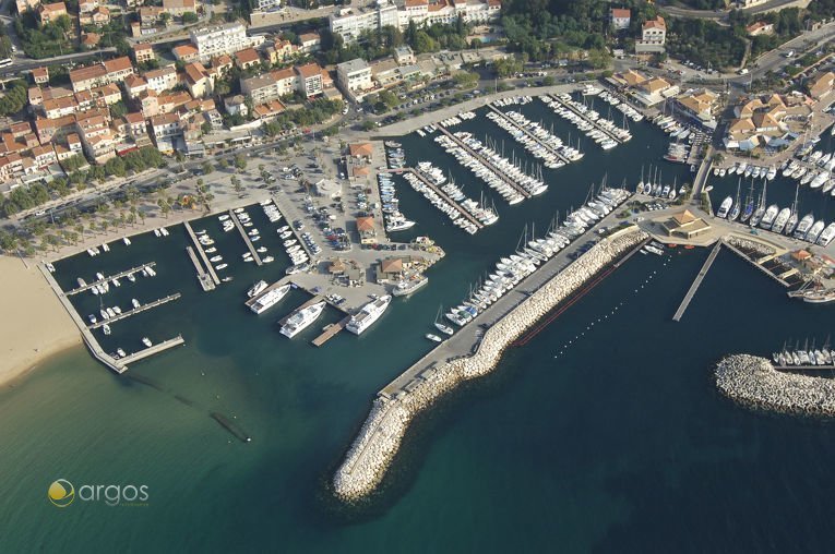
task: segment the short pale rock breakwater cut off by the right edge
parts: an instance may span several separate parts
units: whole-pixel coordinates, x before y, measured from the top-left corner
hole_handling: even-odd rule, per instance
[[[763,410],[835,416],[835,381],[784,373],[765,358],[735,354],[716,365],[716,386],[735,401]]]

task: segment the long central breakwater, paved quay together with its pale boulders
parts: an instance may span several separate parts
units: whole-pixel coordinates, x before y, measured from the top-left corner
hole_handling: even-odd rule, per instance
[[[608,220],[609,217],[604,218],[599,225]],[[594,228],[587,231],[594,232]],[[575,239],[384,387],[334,475],[336,495],[353,501],[370,493],[382,480],[418,412],[458,383],[492,371],[516,337],[646,237],[630,226],[571,261],[570,254],[580,252],[591,237]]]

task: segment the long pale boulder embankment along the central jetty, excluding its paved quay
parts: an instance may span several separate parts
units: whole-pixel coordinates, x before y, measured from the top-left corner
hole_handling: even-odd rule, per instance
[[[379,395],[333,478],[334,493],[350,502],[372,492],[399,448],[411,419],[458,383],[486,375],[504,349],[559,302],[647,234],[628,228],[603,239],[491,326],[472,356],[425,370],[394,396]]]

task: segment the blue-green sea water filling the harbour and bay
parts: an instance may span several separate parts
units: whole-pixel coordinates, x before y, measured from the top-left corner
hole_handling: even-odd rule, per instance
[[[482,119],[466,125],[501,138]],[[497,198],[500,221],[476,237],[439,224],[404,190],[414,234],[436,238],[446,258],[430,270],[429,287],[395,302],[361,337],[337,336],[321,349],[307,344],[315,329],[294,341],[277,333],[275,321],[302,293],[261,317],[246,311],[246,289],[277,278],[284,257],[262,269],[240,263],[242,242],[216,220],[194,227],[214,236],[236,279],[208,294],[199,291],[179,228],[59,263],[59,279],[72,286],[77,276],[156,261],[155,279],[124,282],[107,301],[182,298],[114,325],[104,345],[130,350],[141,336],[178,333],[187,345],[131,368],[145,383],[116,377],[77,350],[0,393],[0,551],[826,550],[832,424],[738,408],[715,392],[711,365],[729,352],[767,354],[789,338],[820,342],[832,316],[789,301],[728,252],[680,323],[672,313],[707,252],[633,256],[524,348],[510,349],[496,374],[422,418],[370,505],[344,508],[327,496],[326,480],[375,392],[430,348],[422,335],[438,305],[458,301],[513,250],[525,222],[545,229],[605,172],[609,182],[634,183],[642,162],[658,162],[664,136],[632,128],[630,144],[608,154],[588,145],[576,167],[547,172],[545,196],[514,207]],[[450,164],[430,141],[403,142],[413,159]],[[665,165],[665,176],[676,169]],[[478,191],[466,172],[452,173],[470,195]],[[249,212],[266,242],[260,208]],[[76,301],[83,314],[98,309],[95,297]],[[315,327],[337,314],[326,317]],[[211,411],[253,441],[234,438]],[[46,496],[58,478],[76,487],[145,484],[150,499],[117,507],[76,499],[59,509]]]

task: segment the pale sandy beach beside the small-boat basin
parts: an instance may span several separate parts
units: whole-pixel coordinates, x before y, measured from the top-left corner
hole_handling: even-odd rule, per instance
[[[28,267],[27,267],[28,266]],[[82,344],[35,262],[0,256],[0,386],[40,360]]]

